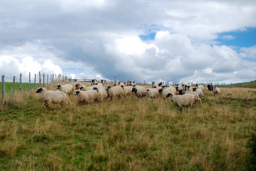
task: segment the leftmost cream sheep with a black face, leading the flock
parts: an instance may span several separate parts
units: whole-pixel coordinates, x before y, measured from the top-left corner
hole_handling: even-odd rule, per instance
[[[43,101],[45,101],[46,108],[51,103],[61,104],[62,102],[64,102],[68,106],[69,104],[73,104],[69,101],[69,97],[66,95],[66,93],[62,91],[51,91],[51,90],[47,90],[45,87],[39,87],[36,93],[40,93],[40,96],[42,97]]]

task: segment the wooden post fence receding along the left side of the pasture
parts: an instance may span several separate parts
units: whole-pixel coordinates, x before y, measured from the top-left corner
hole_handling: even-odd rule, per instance
[[[42,77],[43,78],[42,78]],[[17,78],[19,77],[19,82],[17,80]],[[34,82],[32,83],[31,80],[34,79]],[[13,101],[15,100],[15,89],[19,89],[21,96],[23,95],[23,89],[28,89],[29,93],[31,93],[31,86],[34,86],[34,90],[36,89],[36,86],[39,87],[45,87],[45,84],[54,84],[55,82],[63,82],[65,80],[67,80],[67,76],[61,76],[61,74],[59,74],[58,76],[54,74],[52,75],[46,75],[43,74],[41,75],[41,73],[39,72],[39,74],[35,74],[34,77],[30,74],[29,72],[29,76],[22,76],[22,74],[20,74],[19,76],[14,76],[13,78],[6,78],[5,75],[2,75],[2,84],[0,85],[0,87],[2,87],[0,89],[0,91],[2,91],[2,104],[5,104],[5,97],[6,97],[6,93],[9,92],[13,94]],[[12,81],[12,82],[11,82]],[[23,83],[23,84],[22,84]],[[27,83],[27,84],[24,84]],[[26,87],[23,87],[24,85],[26,85]]]

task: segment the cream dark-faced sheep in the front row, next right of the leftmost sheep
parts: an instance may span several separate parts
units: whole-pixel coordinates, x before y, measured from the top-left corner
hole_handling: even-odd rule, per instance
[[[76,90],[75,96],[77,96],[77,101],[79,103],[90,104],[95,101],[102,102],[103,99],[99,96],[98,92],[94,89],[89,89],[88,91]]]

